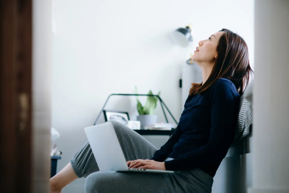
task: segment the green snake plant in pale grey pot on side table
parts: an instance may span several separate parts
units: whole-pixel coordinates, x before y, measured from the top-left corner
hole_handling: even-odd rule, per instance
[[[135,93],[138,94],[136,87]],[[153,92],[150,90],[148,94],[153,95]],[[157,95],[160,96],[160,92],[157,93]],[[141,102],[138,100],[138,96],[136,96],[136,100],[139,113],[139,115],[137,116],[137,120],[141,122],[141,129],[144,129],[144,126],[146,125],[153,125],[157,123],[157,115],[154,115],[154,109],[157,107],[158,97],[148,96],[144,106],[141,105]]]

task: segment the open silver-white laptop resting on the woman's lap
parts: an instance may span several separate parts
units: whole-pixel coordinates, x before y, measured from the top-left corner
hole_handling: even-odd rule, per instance
[[[100,171],[173,173],[168,170],[129,168],[111,122],[84,128]]]

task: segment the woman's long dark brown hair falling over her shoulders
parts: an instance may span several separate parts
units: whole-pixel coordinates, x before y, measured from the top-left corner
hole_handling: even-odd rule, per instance
[[[204,83],[192,83],[190,96],[203,93],[212,86],[219,78],[228,78],[234,84],[241,95],[250,81],[253,70],[249,63],[248,47],[241,36],[230,30],[222,29],[225,32],[218,42],[217,59],[213,70]]]

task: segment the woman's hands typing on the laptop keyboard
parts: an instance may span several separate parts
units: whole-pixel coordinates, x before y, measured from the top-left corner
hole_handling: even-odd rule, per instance
[[[129,168],[166,170],[164,162],[157,162],[154,160],[132,160],[128,161],[127,165]]]

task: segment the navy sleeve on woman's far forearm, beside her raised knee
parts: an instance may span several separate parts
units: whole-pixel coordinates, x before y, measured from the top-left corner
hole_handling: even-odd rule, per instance
[[[151,160],[163,162],[168,155],[172,152],[172,147],[179,141],[180,136],[182,135],[180,123],[178,124],[176,131],[169,140],[154,153],[154,157]]]

